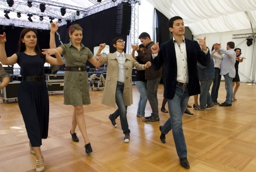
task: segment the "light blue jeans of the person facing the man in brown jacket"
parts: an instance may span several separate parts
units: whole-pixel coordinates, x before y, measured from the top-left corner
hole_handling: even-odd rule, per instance
[[[145,81],[135,81],[136,88],[140,93],[140,99],[138,104],[137,114],[140,116],[145,116],[145,108],[146,102],[148,100],[147,92],[146,92],[146,82]]]

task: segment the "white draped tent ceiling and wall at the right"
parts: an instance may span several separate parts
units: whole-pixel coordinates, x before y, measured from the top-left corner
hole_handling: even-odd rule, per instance
[[[256,0],[147,0],[167,18],[180,16],[188,26],[194,39],[204,38],[212,49],[214,43],[233,41],[241,48],[239,63],[241,82],[256,82],[256,43],[247,46],[246,38],[233,39],[233,34],[256,34]],[[251,24],[250,24],[251,22]],[[166,28],[167,29],[167,28]]]

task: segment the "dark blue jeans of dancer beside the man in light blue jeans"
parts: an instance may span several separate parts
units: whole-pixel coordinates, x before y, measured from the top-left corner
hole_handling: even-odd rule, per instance
[[[211,97],[212,97],[212,101],[214,103],[217,103],[218,102],[217,99],[218,99],[218,93],[219,93],[220,79],[221,79],[220,69],[219,68],[214,68],[214,74],[215,74],[215,78],[213,79],[213,87],[212,87]]]

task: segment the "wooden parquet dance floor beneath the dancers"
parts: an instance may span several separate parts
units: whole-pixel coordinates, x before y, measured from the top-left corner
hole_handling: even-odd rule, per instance
[[[160,123],[144,123],[136,117],[139,93],[133,86],[133,105],[127,109],[130,143],[124,143],[119,118],[114,128],[108,115],[116,109],[101,104],[102,91],[90,90],[91,105],[84,106],[87,133],[93,152],[86,155],[80,142],[71,140],[73,107],[63,105],[63,92],[49,95],[49,137],[41,146],[46,172],[253,172],[256,171],[256,85],[241,83],[237,101],[231,107],[214,106],[206,111],[189,110],[183,116],[190,169],[182,168],[172,133],[161,143],[159,125],[169,117],[160,111],[163,86],[159,85]],[[219,102],[225,100],[221,82]],[[190,98],[193,105],[193,97]],[[167,105],[166,105],[167,109]],[[151,113],[149,102],[146,116]],[[17,102],[0,102],[0,171],[35,171],[35,156],[30,154],[25,125]]]

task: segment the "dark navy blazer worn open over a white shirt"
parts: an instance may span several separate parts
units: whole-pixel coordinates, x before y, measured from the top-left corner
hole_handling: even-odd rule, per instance
[[[200,84],[197,73],[197,61],[203,66],[210,63],[210,52],[205,54],[197,41],[185,38],[188,65],[188,94],[200,94]],[[174,98],[177,82],[177,61],[173,39],[162,43],[158,56],[151,59],[154,70],[158,70],[162,64],[165,65],[164,71],[164,97]]]

